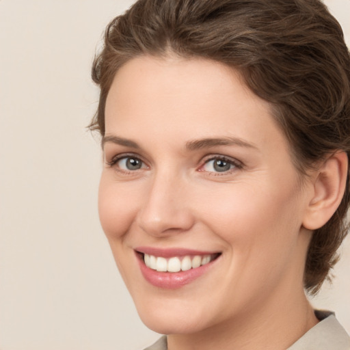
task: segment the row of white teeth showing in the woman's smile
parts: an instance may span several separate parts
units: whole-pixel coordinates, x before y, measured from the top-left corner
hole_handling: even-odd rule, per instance
[[[182,259],[174,256],[172,258],[166,259],[161,256],[153,256],[150,254],[144,254],[144,262],[150,269],[157,270],[159,272],[178,272],[187,271],[189,269],[196,269],[201,265],[206,265],[211,262],[211,255],[204,256],[184,256]]]

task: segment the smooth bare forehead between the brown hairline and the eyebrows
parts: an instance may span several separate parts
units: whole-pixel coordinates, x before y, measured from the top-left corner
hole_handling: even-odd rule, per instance
[[[105,118],[106,134],[139,138],[147,131],[168,143],[213,136],[286,142],[269,103],[249,90],[239,72],[207,59],[132,59],[113,79]]]

